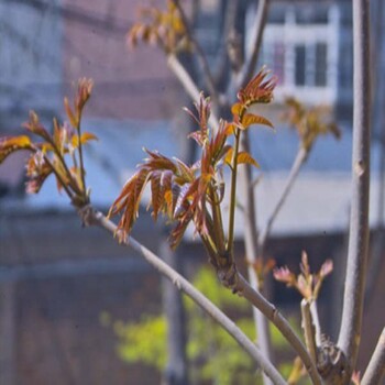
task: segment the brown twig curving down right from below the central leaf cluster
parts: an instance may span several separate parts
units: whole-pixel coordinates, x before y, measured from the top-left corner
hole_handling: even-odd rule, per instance
[[[232,287],[232,289],[242,295],[252,305],[260,309],[265,315],[265,317],[267,317],[267,319],[270,319],[276,326],[276,328],[286,338],[286,340],[290,343],[293,349],[301,359],[307,372],[311,377],[312,383],[316,385],[320,385],[320,376],[308,351],[306,350],[300,339],[297,337],[296,332],[293,330],[290,323],[286,320],[285,317],[280,315],[276,307],[272,305],[258,292],[254,290],[240,273],[237,273],[235,284],[234,287]]]

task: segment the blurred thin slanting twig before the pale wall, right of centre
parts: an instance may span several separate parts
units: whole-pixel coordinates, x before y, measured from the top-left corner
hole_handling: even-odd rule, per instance
[[[293,163],[290,173],[287,177],[286,185],[280,193],[279,199],[277,200],[271,216],[268,217],[268,220],[266,222],[266,227],[260,233],[260,237],[258,237],[260,254],[263,254],[263,252],[264,252],[266,240],[272,231],[273,223],[274,223],[279,210],[282,209],[286,198],[288,197],[290,189],[292,189],[292,187],[293,187],[293,185],[298,176],[298,173],[307,160],[307,156],[308,156],[308,151],[305,147],[300,146],[298,150],[297,156]]]

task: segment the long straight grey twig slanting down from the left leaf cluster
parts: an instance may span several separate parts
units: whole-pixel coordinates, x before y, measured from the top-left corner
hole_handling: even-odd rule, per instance
[[[117,232],[117,226],[107,219],[101,212],[95,211],[90,206],[86,206],[81,209],[80,216],[82,221],[88,226],[98,226],[112,234],[116,234]],[[275,366],[263,355],[258,348],[241,331],[241,329],[239,329],[231,319],[229,319],[207,297],[197,290],[187,279],[132,237],[127,239],[124,245],[140,253],[153,267],[170,279],[179,290],[184,292],[201,309],[210,315],[230,336],[233,337],[239,345],[250,354],[274,384],[286,384]]]

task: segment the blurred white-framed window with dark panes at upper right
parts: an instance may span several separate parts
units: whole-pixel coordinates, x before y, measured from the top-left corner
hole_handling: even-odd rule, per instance
[[[317,3],[312,3],[317,8]],[[277,10],[278,11],[278,10]],[[284,22],[266,25],[258,67],[265,64],[278,77],[276,99],[293,95],[309,103],[337,100],[339,10],[287,7]],[[282,19],[282,8],[279,9]],[[304,15],[310,15],[305,18]],[[312,20],[311,15],[317,18]]]

